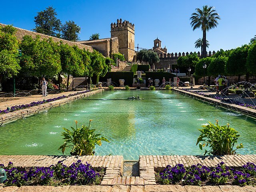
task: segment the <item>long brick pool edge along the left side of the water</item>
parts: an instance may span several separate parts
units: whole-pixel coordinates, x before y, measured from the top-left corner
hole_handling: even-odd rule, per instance
[[[98,89],[98,90],[93,90],[87,93],[82,93],[82,94],[78,94],[75,96],[68,96],[67,98],[63,98],[63,99],[59,99],[56,101],[52,101],[52,102],[48,102],[48,103],[44,103],[44,104],[40,104],[37,106],[33,106],[33,107],[29,107],[29,108],[25,108],[25,109],[21,109],[21,110],[17,110],[14,112],[9,112],[6,114],[2,114],[0,115],[0,125],[2,124],[6,124],[9,122],[12,122],[14,120],[18,120],[33,114],[36,114],[38,112],[53,108],[53,107],[57,107],[57,106],[61,106],[70,102],[73,102],[75,100],[78,100],[80,98],[84,98],[84,97],[88,97],[94,94],[97,94],[99,92],[104,91],[104,89]]]

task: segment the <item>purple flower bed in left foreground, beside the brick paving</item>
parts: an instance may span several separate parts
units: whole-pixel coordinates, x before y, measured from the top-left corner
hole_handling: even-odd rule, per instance
[[[66,166],[61,162],[49,167],[32,167],[28,170],[21,170],[14,167],[12,162],[9,162],[5,167],[0,164],[0,168],[6,170],[7,179],[4,181],[4,186],[36,186],[36,185],[89,185],[100,184],[103,177],[103,169],[101,172],[96,172],[90,164],[82,164],[80,160],[70,166]]]

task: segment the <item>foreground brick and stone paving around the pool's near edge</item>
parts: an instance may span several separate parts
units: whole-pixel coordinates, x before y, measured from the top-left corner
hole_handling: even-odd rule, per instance
[[[240,168],[246,162],[256,163],[256,155],[224,155],[224,156],[160,156],[147,155],[139,157],[138,177],[122,176],[124,159],[122,156],[26,156],[26,155],[1,155],[0,163],[7,164],[9,161],[14,166],[50,166],[62,161],[63,164],[71,165],[73,162],[81,160],[82,163],[88,162],[95,169],[105,168],[106,173],[99,186],[21,186],[0,187],[0,192],[255,192],[255,186],[180,186],[180,185],[156,185],[154,172],[158,172],[166,167],[175,164],[190,166],[200,163],[206,166],[215,166],[224,162],[227,166]]]

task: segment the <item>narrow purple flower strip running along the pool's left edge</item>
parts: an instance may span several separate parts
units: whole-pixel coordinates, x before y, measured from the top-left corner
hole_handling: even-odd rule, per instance
[[[62,96],[55,97],[55,98],[52,98],[52,99],[46,99],[46,100],[43,100],[43,101],[31,102],[30,104],[15,105],[15,106],[10,107],[10,109],[0,110],[0,114],[5,114],[5,113],[9,113],[9,112],[25,109],[25,108],[28,108],[28,107],[37,106],[37,105],[40,105],[40,104],[56,101],[56,100],[67,98],[67,97],[68,96],[62,95]]]

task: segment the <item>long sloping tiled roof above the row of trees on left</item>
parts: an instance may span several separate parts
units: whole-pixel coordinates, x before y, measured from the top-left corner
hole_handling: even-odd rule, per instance
[[[2,24],[0,23],[0,26],[4,27],[6,26],[6,24]],[[19,41],[22,40],[22,38],[25,36],[25,35],[31,35],[32,38],[36,38],[36,36],[40,36],[40,39],[48,39],[48,38],[52,38],[52,40],[54,42],[60,42],[62,41],[64,44],[68,44],[70,46],[78,46],[78,48],[80,49],[83,49],[85,48],[86,50],[92,52],[93,49],[91,46],[88,46],[88,45],[84,45],[84,44],[81,44],[81,43],[78,43],[78,42],[72,42],[72,41],[68,41],[68,40],[64,40],[64,39],[60,39],[60,38],[56,38],[56,37],[52,37],[52,36],[49,36],[49,35],[45,35],[45,34],[41,34],[41,33],[37,33],[37,32],[34,32],[34,31],[29,31],[29,30],[26,30],[26,29],[22,29],[22,28],[18,28],[18,27],[15,27],[16,28],[16,33],[15,33],[15,36],[17,37],[17,39]]]

